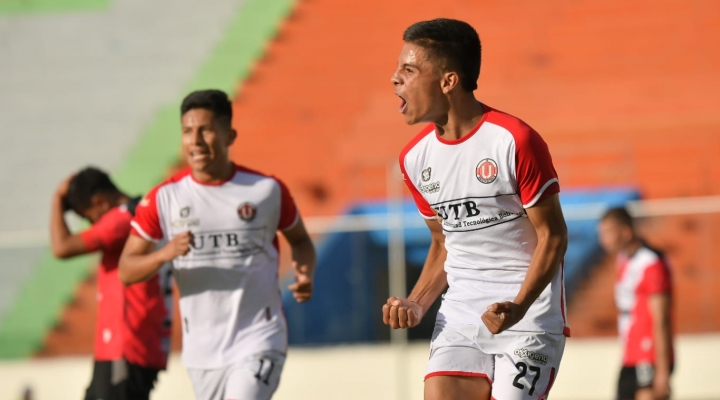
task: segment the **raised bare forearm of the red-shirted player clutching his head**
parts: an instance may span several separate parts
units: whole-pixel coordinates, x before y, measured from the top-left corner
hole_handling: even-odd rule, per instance
[[[91,252],[80,235],[73,235],[65,222],[64,200],[72,176],[55,191],[50,210],[50,247],[57,258],[71,258]]]

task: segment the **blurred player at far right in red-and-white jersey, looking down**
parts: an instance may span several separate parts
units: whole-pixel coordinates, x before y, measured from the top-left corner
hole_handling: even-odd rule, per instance
[[[617,255],[615,303],[623,343],[617,398],[667,399],[674,363],[668,263],[638,236],[625,208],[608,210],[598,235],[603,249]]]

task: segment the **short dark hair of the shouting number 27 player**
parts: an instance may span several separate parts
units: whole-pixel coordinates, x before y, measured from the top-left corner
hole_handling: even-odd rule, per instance
[[[405,30],[403,40],[426,49],[429,57],[442,63],[442,69],[456,71],[465,91],[477,89],[482,46],[467,22],[447,18],[416,22]]]

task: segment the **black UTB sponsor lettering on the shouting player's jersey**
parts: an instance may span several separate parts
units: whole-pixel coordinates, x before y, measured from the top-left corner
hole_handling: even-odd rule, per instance
[[[483,206],[483,199],[486,198],[468,197],[432,204],[431,207],[442,218],[443,229],[457,232],[484,229],[525,215],[524,212],[510,212],[497,207]]]

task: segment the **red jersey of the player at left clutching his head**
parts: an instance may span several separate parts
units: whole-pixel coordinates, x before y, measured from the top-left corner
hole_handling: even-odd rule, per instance
[[[125,205],[115,207],[80,233],[89,252],[102,250],[97,272],[95,359],[125,358],[143,367],[164,369],[170,341],[169,276],[158,274],[129,287],[118,277],[118,261],[132,218]]]

